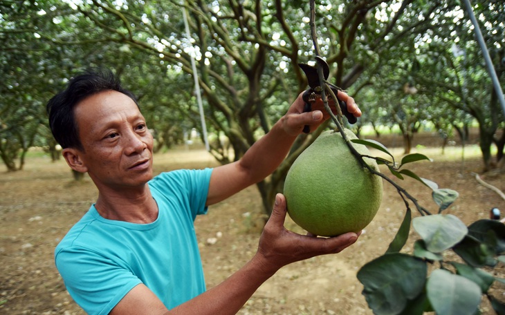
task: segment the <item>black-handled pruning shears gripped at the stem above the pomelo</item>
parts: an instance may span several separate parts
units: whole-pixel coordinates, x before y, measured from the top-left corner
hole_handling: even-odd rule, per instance
[[[321,57],[316,56],[315,59],[318,62],[318,64],[320,64],[320,66],[322,66],[323,77],[324,77],[324,80],[326,81],[328,79],[329,73],[330,73],[329,66],[328,66],[327,62],[324,61],[324,59],[322,59]],[[316,101],[316,99],[321,98],[321,92],[322,92],[323,87],[320,85],[320,82],[319,82],[319,75],[318,75],[317,66],[310,66],[309,64],[298,64],[298,66],[300,66],[300,68],[302,68],[303,72],[305,73],[305,76],[307,77],[307,82],[309,82],[309,86],[310,86],[310,88],[308,90],[306,90],[302,95],[302,98],[305,102],[305,105],[304,105],[304,113],[305,113],[305,112],[312,111],[312,104]],[[355,124],[358,121],[358,119],[356,117],[354,117],[353,114],[349,113],[349,111],[347,111],[347,104],[345,104],[344,101],[342,101],[341,99],[338,98],[338,91],[342,90],[342,88],[339,88],[338,86],[333,85],[329,82],[326,82],[326,83],[328,84],[328,86],[331,88],[331,90],[333,91],[333,93],[337,97],[336,103],[338,103],[338,105],[340,106],[340,110],[342,111],[342,115],[347,117],[347,121],[349,122],[349,124]],[[328,95],[328,99],[331,99],[331,95]],[[309,133],[309,131],[310,131],[310,127],[304,126],[303,132]]]

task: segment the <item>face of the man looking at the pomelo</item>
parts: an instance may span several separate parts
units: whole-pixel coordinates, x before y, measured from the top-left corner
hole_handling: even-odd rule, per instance
[[[135,102],[107,90],[75,107],[84,169],[98,189],[140,187],[152,178],[153,137]]]

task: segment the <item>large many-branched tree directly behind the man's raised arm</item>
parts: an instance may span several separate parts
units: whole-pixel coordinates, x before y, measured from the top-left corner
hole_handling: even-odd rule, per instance
[[[449,10],[438,3],[381,2],[319,4],[320,47],[331,65],[331,80],[343,88],[356,82],[365,69],[377,69],[380,56],[409,35],[430,28],[430,12]],[[313,45],[308,3],[300,4],[188,1],[184,7],[193,41],[185,35],[178,1],[91,1],[71,4],[73,12],[59,18],[77,17],[86,29],[97,30],[95,41],[128,44],[157,56],[170,70],[192,74],[191,57],[199,60],[209,129],[227,139],[213,142],[210,153],[227,163],[239,159],[257,137],[267,133],[306,87],[297,64],[313,58]],[[418,18],[419,12],[426,12],[425,19]],[[297,154],[312,140],[300,137],[284,164],[258,184],[265,209],[270,209],[273,196],[282,190]],[[234,155],[223,154],[226,144]]]

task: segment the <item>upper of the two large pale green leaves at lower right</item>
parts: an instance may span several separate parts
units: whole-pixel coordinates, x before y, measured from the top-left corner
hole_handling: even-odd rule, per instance
[[[460,242],[468,233],[466,225],[452,214],[417,217],[412,226],[423,238],[426,248],[440,253]]]

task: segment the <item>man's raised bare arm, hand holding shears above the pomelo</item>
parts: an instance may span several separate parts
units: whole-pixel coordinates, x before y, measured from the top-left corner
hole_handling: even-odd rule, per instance
[[[313,111],[304,113],[302,94],[298,95],[286,115],[281,117],[264,137],[255,142],[239,161],[218,166],[212,171],[207,205],[225,200],[266,178],[286,158],[305,125],[310,126],[313,131],[329,119],[320,99],[313,105]],[[361,115],[352,97],[341,91],[338,91],[338,97],[346,102],[349,113],[356,117]]]

